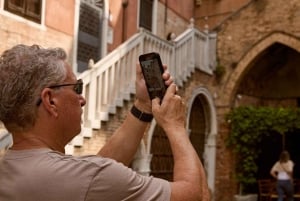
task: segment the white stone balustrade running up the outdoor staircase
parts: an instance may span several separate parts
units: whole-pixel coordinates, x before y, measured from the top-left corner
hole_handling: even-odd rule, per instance
[[[122,107],[124,100],[130,100],[135,93],[138,56],[148,52],[158,52],[175,82],[182,86],[195,69],[213,73],[216,34],[191,27],[174,41],[167,41],[141,29],[100,61],[90,62],[90,69],[79,75],[87,104],[83,109],[82,132],[67,146],[70,152],[73,145],[82,145],[83,137],[91,137],[92,129],[100,129],[101,122]]]

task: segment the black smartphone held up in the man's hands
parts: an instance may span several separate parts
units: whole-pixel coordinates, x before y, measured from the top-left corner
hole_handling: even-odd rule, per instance
[[[159,97],[163,99],[167,86],[162,78],[164,68],[160,56],[156,52],[151,52],[139,56],[139,62],[146,81],[150,99]]]

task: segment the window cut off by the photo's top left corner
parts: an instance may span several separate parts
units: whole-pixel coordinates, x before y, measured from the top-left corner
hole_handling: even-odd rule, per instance
[[[41,23],[42,0],[5,0],[4,9],[28,20]]]

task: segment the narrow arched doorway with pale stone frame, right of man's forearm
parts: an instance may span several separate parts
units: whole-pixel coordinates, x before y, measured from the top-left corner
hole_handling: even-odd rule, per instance
[[[194,114],[193,114],[194,113]],[[201,117],[202,116],[202,117]],[[205,122],[203,124],[203,122]],[[194,125],[196,126],[193,128]],[[201,128],[202,127],[202,128]],[[190,131],[190,139],[195,146],[203,146],[202,158],[203,166],[206,171],[208,187],[211,191],[212,200],[214,200],[215,191],[215,168],[216,168],[216,138],[217,138],[217,114],[213,101],[213,96],[208,89],[199,87],[192,92],[188,102],[187,129]],[[200,129],[202,131],[193,131]],[[194,135],[194,137],[192,137]],[[203,136],[199,136],[203,135]],[[192,138],[191,138],[192,137]],[[204,137],[204,138],[203,138]],[[195,138],[202,138],[200,143],[193,143]],[[199,147],[198,147],[199,148]],[[195,147],[195,149],[198,149]],[[198,153],[199,154],[199,153]]]

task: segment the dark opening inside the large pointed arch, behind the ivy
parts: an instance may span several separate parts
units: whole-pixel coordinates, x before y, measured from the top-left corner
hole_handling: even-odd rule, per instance
[[[299,52],[282,43],[273,43],[249,65],[237,89],[240,98],[236,106],[298,107],[299,65]],[[295,148],[300,140],[300,132],[293,131],[284,135],[285,140],[279,133],[271,133],[263,138],[257,160],[258,179],[271,178],[269,171],[283,149],[290,152],[293,160],[298,160]],[[295,166],[295,172],[300,171],[298,166]]]

